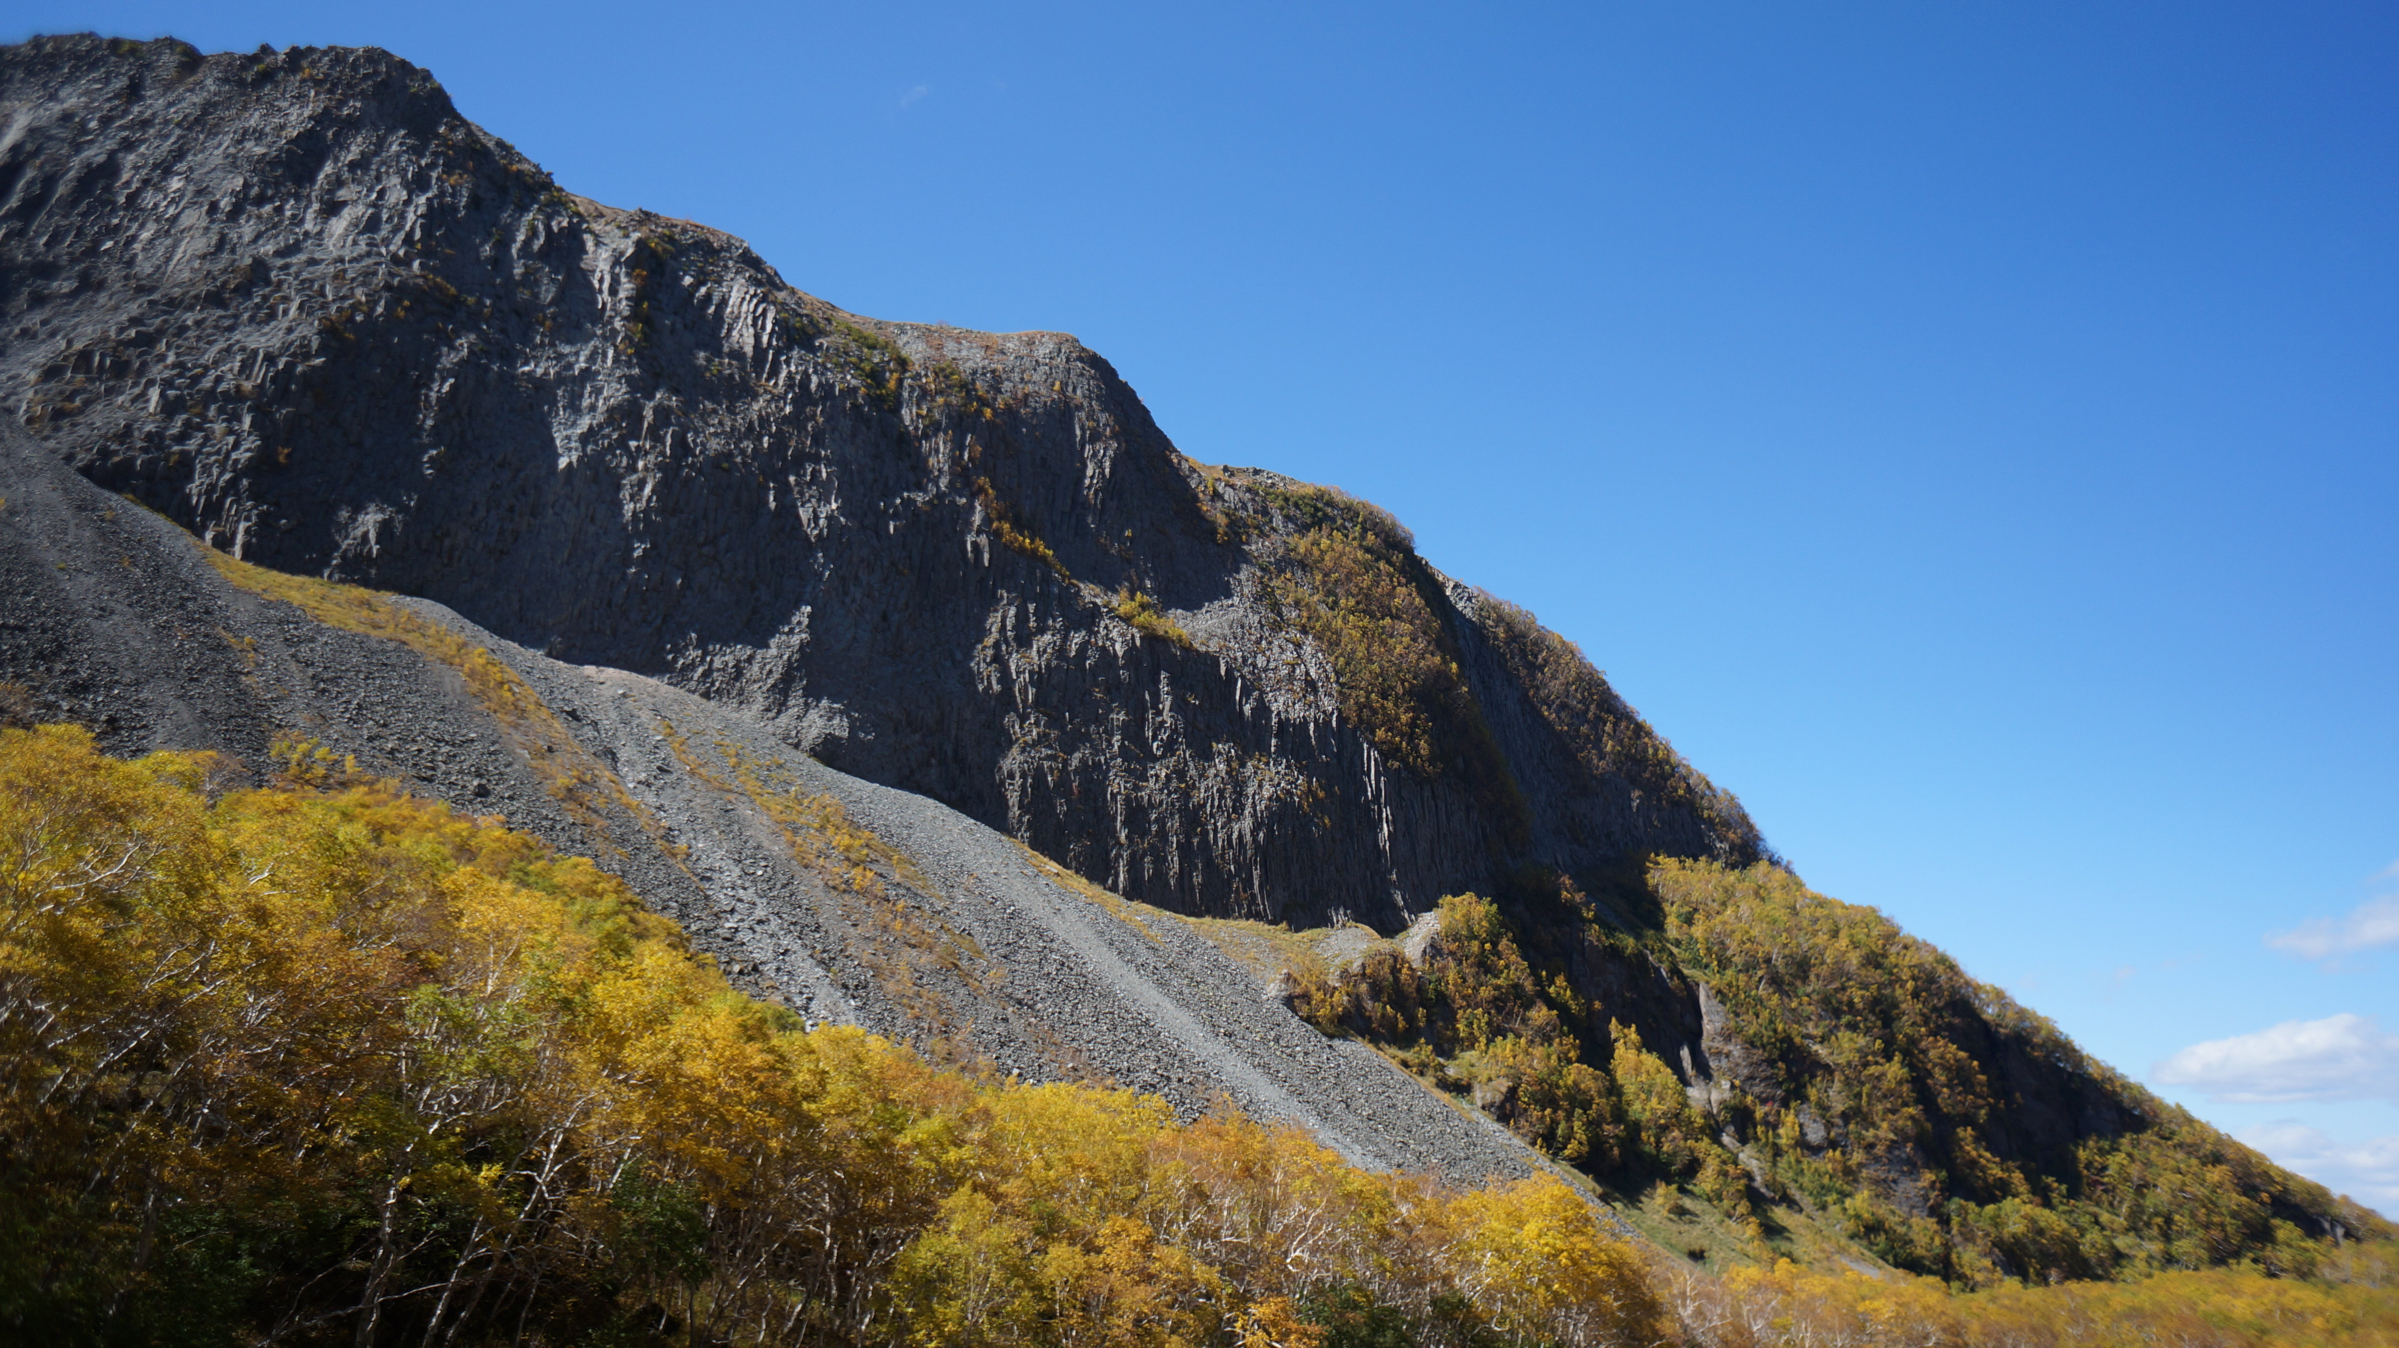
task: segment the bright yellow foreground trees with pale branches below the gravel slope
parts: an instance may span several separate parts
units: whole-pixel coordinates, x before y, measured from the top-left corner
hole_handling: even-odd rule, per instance
[[[381,784],[0,732],[0,1314],[41,1341],[1617,1343],[1555,1180],[974,1082]],[[1331,1298],[1331,1300],[1327,1300]],[[1490,1338],[1497,1336],[1497,1338]]]

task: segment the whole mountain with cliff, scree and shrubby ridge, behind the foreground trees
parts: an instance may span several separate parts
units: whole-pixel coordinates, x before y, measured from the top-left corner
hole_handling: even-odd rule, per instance
[[[14,722],[396,780],[811,1022],[1713,1264],[1960,1283],[2380,1221],[1809,892],[1384,511],[1060,333],[847,314],[379,50],[0,53]]]

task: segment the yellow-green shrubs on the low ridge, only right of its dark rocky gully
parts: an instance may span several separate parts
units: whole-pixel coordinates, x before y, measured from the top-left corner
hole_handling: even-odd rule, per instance
[[[1758,1137],[1900,1266],[1986,1283],[2255,1259],[2308,1276],[2325,1245],[2293,1221],[2380,1228],[2085,1058],[2056,1027],[1869,907],[1816,895],[1770,863],[1660,859],[1648,880],[1667,940],[1828,1125],[1830,1149],[1799,1156],[1797,1120],[1770,1106],[1758,1106]],[[2046,1156],[2006,1156],[1994,1118],[2001,1096],[1982,1067],[2003,1039],[2032,1063],[2097,1082],[2123,1127]],[[1922,1159],[1907,1178],[1938,1218],[1905,1214],[1864,1182],[1890,1156]]]

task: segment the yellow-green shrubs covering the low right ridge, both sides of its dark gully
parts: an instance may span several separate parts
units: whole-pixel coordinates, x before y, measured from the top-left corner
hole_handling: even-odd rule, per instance
[[[1770,863],[1663,859],[1646,887],[1660,909],[1648,940],[1595,923],[1571,890],[1550,904],[1569,921],[1547,928],[1475,895],[1442,899],[1420,962],[1382,945],[1341,976],[1307,979],[1295,1010],[1471,1091],[1610,1185],[1684,1187],[1746,1233],[1751,1259],[1787,1247],[1773,1238],[1785,1218],[1960,1286],[2226,1264],[2310,1276],[2341,1240],[2389,1235],[2365,1209],[2082,1058],[1874,909],[1814,895]],[[1739,1072],[1677,1072],[1663,1046],[1619,1024],[1622,1007],[1569,976],[1607,959],[1665,959],[1713,988],[1737,1039],[1720,1048],[1744,1058]],[[2044,1089],[2092,1099],[2025,1099]],[[2042,1111],[2051,1135],[2030,1118]]]

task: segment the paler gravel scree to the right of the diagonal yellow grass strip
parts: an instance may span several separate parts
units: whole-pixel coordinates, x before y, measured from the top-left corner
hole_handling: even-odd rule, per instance
[[[559,664],[427,600],[410,607],[473,633],[588,732],[585,744],[691,849],[705,899],[674,916],[708,933],[744,981],[811,1019],[856,1022],[1027,1079],[1108,1079],[1185,1115],[1226,1099],[1298,1123],[1360,1166],[1526,1173],[1507,1130],[1370,1048],[1324,1039],[1176,914],[1089,897],[950,806],[825,768],[667,684]],[[828,883],[794,859],[729,751],[753,780],[840,801],[904,856],[873,866],[883,895]]]

